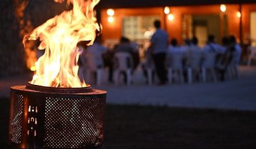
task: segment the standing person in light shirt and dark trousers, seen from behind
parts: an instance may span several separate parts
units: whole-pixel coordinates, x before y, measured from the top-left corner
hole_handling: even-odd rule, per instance
[[[160,29],[160,21],[154,22],[155,28],[157,29],[151,37],[151,48],[153,52],[153,60],[155,62],[155,69],[157,76],[160,80],[159,85],[166,84],[166,51],[168,49],[168,34],[165,30]]]

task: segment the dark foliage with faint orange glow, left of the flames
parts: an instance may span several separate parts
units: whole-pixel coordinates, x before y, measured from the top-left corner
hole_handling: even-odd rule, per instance
[[[35,28],[67,9],[65,3],[54,0],[0,0],[0,77],[28,71],[22,43],[29,33],[26,22],[31,21]]]

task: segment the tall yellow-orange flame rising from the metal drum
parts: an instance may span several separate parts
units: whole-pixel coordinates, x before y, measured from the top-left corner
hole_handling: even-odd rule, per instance
[[[55,0],[62,3],[64,0]],[[36,62],[36,74],[31,84],[49,87],[86,87],[78,76],[77,65],[81,50],[79,41],[92,45],[96,31],[100,31],[94,13],[94,6],[99,0],[67,0],[73,3],[73,9],[47,20],[23,39],[40,38],[38,49],[45,49],[43,56]]]

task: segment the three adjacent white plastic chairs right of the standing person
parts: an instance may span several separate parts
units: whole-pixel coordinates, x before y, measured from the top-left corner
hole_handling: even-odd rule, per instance
[[[216,53],[207,52],[204,56],[204,61],[201,61],[201,52],[192,52],[186,59],[188,65],[185,67],[184,54],[181,52],[173,52],[167,54],[166,65],[168,70],[168,81],[172,84],[173,80],[179,76],[179,81],[184,83],[184,70],[186,70],[186,76],[188,84],[192,84],[195,80],[195,75],[199,73],[199,77],[203,82],[207,80],[207,71],[211,74],[214,82],[217,81],[216,73],[214,70]],[[184,69],[185,68],[185,69]],[[201,71],[201,74],[200,74]]]

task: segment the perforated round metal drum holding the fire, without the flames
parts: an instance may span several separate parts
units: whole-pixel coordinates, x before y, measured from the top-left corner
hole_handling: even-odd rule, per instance
[[[8,141],[19,148],[99,148],[106,91],[12,86]]]

